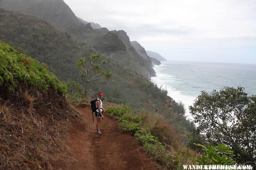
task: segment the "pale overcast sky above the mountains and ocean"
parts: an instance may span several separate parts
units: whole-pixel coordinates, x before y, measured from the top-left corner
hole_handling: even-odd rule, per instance
[[[167,60],[256,64],[256,0],[64,0]]]

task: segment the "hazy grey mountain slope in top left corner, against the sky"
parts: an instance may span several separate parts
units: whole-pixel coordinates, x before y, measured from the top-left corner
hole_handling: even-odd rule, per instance
[[[37,16],[65,32],[84,27],[63,0],[1,0],[0,8]]]

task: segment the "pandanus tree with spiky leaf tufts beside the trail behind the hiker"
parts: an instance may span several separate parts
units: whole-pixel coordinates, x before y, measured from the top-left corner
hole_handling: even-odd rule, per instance
[[[80,58],[76,66],[82,69],[79,76],[82,81],[83,86],[81,88],[84,90],[84,97],[88,92],[95,94],[101,87],[89,88],[88,83],[98,81],[102,78],[107,80],[112,77],[112,72],[110,70],[104,70],[102,68],[103,64],[107,64],[106,60],[100,61],[102,56],[100,53],[94,53],[90,55],[90,63],[86,65],[86,59]]]

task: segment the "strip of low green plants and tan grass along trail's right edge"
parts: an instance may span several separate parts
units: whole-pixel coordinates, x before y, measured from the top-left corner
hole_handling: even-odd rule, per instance
[[[107,113],[120,121],[122,129],[134,135],[142,148],[167,169],[191,163],[191,150],[181,144],[175,127],[160,114],[129,107],[109,107]]]

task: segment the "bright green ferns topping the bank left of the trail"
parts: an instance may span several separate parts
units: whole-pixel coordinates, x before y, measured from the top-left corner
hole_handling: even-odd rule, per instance
[[[14,91],[19,83],[42,91],[48,87],[65,94],[67,86],[47,70],[46,64],[28,57],[0,41],[0,85]]]

